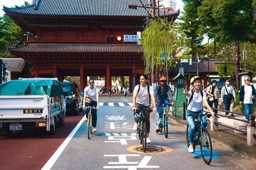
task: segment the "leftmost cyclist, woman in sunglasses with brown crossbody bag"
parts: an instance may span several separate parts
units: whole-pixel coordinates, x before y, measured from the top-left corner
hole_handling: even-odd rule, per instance
[[[96,109],[99,109],[99,89],[98,87],[94,86],[94,80],[90,79],[88,81],[89,86],[85,87],[84,90],[84,105],[83,109],[85,109],[85,106],[91,106],[96,107]],[[97,110],[93,109],[93,120],[92,120],[92,126],[93,126],[93,132],[97,132],[96,124],[97,124]],[[85,110],[85,121],[88,120],[88,113],[89,110]]]

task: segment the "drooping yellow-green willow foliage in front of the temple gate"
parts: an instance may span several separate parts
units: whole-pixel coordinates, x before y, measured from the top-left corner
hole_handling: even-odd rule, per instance
[[[172,65],[172,59],[188,46],[187,36],[179,29],[177,24],[166,19],[150,19],[146,29],[141,33],[141,45],[144,53],[146,73],[163,69],[163,75]]]

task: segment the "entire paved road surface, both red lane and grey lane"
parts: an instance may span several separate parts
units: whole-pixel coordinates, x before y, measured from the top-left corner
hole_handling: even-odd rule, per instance
[[[160,146],[166,151],[146,154],[135,152],[132,148],[140,143],[132,131],[130,101],[131,98],[102,98],[104,104],[98,111],[98,132],[90,140],[87,139],[87,123],[82,120],[84,112],[79,116],[66,117],[65,126],[59,127],[52,136],[1,137],[0,146],[7,149],[0,154],[1,158],[4,157],[4,160],[0,160],[0,169],[255,168],[255,163],[216,143],[213,143],[215,158],[210,166],[206,165],[199,148],[196,154],[188,153],[185,126],[171,123],[167,139],[163,134],[155,134],[154,114],[151,115],[150,146]],[[69,121],[72,123],[69,124]]]

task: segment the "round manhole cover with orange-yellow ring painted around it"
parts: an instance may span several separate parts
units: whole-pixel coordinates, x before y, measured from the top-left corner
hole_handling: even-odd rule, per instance
[[[129,148],[127,148],[127,151],[140,153],[140,154],[165,154],[165,153],[171,152],[172,149],[166,146],[148,144],[146,148],[146,152],[144,152],[144,149],[140,144],[140,145],[130,146]]]

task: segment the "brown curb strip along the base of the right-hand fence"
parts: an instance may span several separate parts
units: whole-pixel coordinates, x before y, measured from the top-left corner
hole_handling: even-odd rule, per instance
[[[174,115],[169,115],[172,121],[187,126],[187,121],[182,120]],[[227,135],[227,132],[224,131],[209,131],[212,141],[215,143],[221,143],[222,146],[226,146],[228,149],[238,152],[239,154],[251,158],[253,161],[256,161],[256,147],[247,146],[244,143],[241,143],[241,140],[236,140],[235,137],[230,138]],[[245,141],[247,143],[247,141]]]

